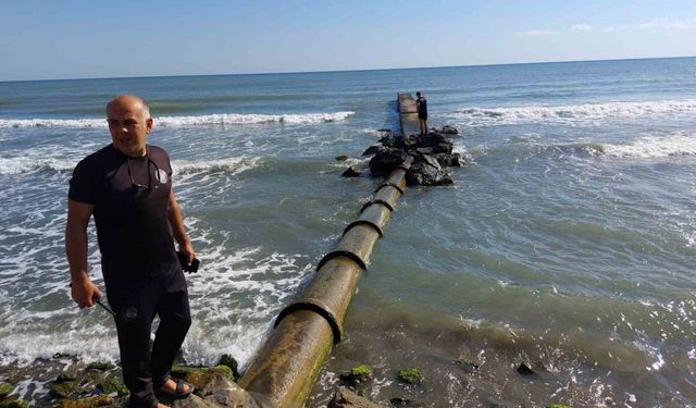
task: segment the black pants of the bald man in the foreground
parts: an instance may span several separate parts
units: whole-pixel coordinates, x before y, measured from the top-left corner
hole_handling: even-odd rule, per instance
[[[117,318],[123,380],[130,391],[130,405],[149,408],[153,390],[161,386],[191,324],[184,272],[142,277],[127,283],[107,282],[109,305]],[[160,317],[152,351],[150,333]]]

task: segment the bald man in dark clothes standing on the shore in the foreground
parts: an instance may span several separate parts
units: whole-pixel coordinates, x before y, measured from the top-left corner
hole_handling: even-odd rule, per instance
[[[94,214],[129,404],[164,408],[156,394],[177,399],[194,391],[169,375],[191,323],[174,238],[189,264],[196,252],[172,190],[169,156],[146,144],[152,131],[147,103],[119,96],[107,106],[107,118],[112,143],[83,159],[70,181],[65,252],[71,295],[80,308],[101,297],[87,273],[87,225]],[[160,325],[149,354],[156,314]]]

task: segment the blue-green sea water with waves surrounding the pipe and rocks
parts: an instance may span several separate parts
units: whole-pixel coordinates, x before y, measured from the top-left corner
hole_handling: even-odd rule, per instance
[[[399,201],[308,405],[356,362],[382,401],[693,404],[693,58],[0,83],[2,364],[116,358],[109,316],[71,302],[63,255],[67,181],[109,143],[114,95],[150,102],[203,264],[184,356],[244,364],[381,183],[340,173],[415,90],[473,164]],[[399,366],[424,383],[395,382]]]

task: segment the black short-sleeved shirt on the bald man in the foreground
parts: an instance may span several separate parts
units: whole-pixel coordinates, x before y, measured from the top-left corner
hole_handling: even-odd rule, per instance
[[[132,158],[113,145],[83,159],[69,197],[95,206],[104,280],[164,274],[178,267],[167,218],[172,166],[166,152],[147,146]]]

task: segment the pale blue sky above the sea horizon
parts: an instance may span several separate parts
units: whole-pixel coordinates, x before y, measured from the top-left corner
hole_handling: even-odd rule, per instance
[[[696,0],[0,0],[0,81],[682,55]]]

